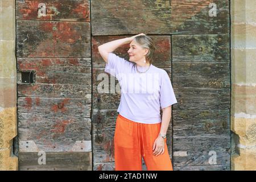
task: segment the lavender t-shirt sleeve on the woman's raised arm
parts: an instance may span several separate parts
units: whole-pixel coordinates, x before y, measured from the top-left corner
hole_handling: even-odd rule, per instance
[[[115,55],[115,53],[110,52],[108,56],[108,63],[106,63],[105,72],[112,76],[116,76],[119,73],[125,73],[130,64],[132,63]]]

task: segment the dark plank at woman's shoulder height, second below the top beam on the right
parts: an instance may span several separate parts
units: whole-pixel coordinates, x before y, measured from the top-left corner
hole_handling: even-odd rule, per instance
[[[174,62],[173,85],[178,88],[230,88],[229,63]]]

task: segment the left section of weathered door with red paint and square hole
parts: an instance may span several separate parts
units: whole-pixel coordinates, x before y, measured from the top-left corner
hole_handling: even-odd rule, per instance
[[[16,1],[20,170],[91,170],[90,1]]]

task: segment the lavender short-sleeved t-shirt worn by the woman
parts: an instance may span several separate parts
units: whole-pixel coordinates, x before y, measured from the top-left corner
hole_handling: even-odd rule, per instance
[[[147,68],[138,67],[141,72]],[[117,111],[131,121],[160,123],[160,109],[177,103],[171,80],[164,69],[151,64],[146,73],[138,73],[133,63],[110,52],[105,72],[117,78],[121,88]]]

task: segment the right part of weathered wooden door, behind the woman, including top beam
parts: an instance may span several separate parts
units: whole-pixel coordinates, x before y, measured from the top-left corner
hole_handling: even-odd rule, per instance
[[[102,92],[103,75],[99,75],[104,74],[105,62],[97,46],[143,32],[155,40],[153,64],[169,73],[177,97],[167,135],[174,169],[229,170],[229,1],[93,0],[91,10],[94,169],[114,169],[120,99],[112,76],[106,81],[109,93]],[[127,49],[114,52],[128,59]]]

